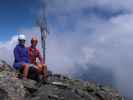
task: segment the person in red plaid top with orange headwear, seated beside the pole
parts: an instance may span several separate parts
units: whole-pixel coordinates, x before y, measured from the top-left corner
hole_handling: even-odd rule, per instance
[[[37,38],[33,37],[31,39],[31,46],[29,47],[29,50],[28,50],[30,63],[37,66],[36,68],[38,69],[38,73],[43,74],[44,78],[47,79],[47,66],[44,64],[44,61],[39,49],[36,48],[37,43],[38,43]],[[40,62],[37,62],[37,58],[39,59]]]

